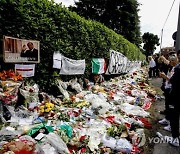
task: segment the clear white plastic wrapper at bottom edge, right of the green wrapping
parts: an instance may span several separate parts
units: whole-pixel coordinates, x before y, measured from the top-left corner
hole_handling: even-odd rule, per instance
[[[67,145],[57,134],[49,133],[48,135],[46,135],[46,139],[57,150],[57,152],[69,154]]]

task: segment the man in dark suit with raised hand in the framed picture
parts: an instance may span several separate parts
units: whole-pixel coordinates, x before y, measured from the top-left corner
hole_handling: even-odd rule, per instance
[[[26,45],[23,45],[21,57],[27,57],[28,61],[38,61],[38,49],[34,48],[34,44],[32,42],[28,42],[27,47]]]

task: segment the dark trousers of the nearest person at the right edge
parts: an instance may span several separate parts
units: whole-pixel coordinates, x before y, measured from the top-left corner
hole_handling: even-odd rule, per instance
[[[179,114],[180,114],[180,105],[169,105],[170,111],[170,125],[172,137],[179,137]]]

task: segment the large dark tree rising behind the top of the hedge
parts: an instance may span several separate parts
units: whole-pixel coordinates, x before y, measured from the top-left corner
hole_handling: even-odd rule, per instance
[[[137,0],[79,0],[71,11],[103,23],[138,47],[141,44]]]

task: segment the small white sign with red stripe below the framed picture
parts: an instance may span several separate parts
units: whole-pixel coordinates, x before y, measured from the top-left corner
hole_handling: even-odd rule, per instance
[[[35,64],[21,65],[15,64],[15,72],[22,75],[22,77],[32,77],[35,72]]]

